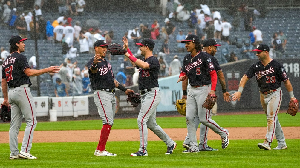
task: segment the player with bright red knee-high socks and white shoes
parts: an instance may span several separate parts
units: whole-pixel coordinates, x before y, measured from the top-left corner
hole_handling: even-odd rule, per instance
[[[95,41],[95,56],[88,60],[87,63],[91,87],[95,90],[94,102],[98,108],[98,113],[103,124],[99,143],[94,152],[94,155],[96,156],[116,156],[116,154],[110,153],[105,149],[116,113],[115,87],[126,94],[134,92],[119,84],[115,79],[112,66],[104,59],[107,52],[107,46],[108,44],[105,40]]]

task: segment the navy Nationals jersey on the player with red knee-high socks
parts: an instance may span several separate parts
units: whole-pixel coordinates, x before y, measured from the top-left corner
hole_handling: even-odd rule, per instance
[[[104,61],[101,60],[101,62],[97,63],[97,67],[98,67],[97,73],[93,74],[90,70],[93,61],[94,58],[88,60],[88,75],[93,90],[115,88],[116,86],[114,82],[115,77],[113,75],[113,69],[110,63],[107,62],[105,59]]]

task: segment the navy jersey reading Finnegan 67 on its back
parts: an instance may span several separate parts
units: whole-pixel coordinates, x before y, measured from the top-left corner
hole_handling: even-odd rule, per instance
[[[17,52],[11,53],[2,64],[2,78],[7,80],[8,87],[17,87],[22,84],[30,84],[29,77],[23,73],[30,68],[27,58]]]

